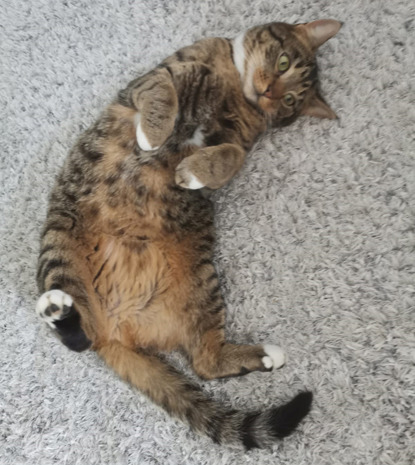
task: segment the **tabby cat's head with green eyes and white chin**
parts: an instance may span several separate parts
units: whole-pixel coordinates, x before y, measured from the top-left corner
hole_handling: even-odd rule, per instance
[[[245,97],[275,125],[300,115],[336,118],[318,92],[315,54],[340,27],[332,19],[270,23],[239,35],[233,51]]]

